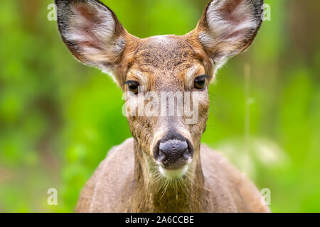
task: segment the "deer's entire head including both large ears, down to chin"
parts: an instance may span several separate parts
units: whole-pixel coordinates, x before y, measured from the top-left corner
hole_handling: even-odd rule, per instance
[[[100,1],[56,0],[65,44],[81,62],[112,74],[126,93],[140,162],[164,177],[194,170],[208,119],[208,85],[218,67],[252,43],[262,3],[214,0],[191,33],[139,39]]]

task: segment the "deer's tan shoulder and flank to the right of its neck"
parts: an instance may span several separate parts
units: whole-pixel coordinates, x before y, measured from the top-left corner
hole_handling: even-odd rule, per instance
[[[204,187],[217,212],[270,212],[255,184],[222,154],[201,145]]]

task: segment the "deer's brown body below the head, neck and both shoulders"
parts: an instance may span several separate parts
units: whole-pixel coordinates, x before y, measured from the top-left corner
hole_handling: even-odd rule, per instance
[[[82,190],[77,212],[269,212],[255,185],[222,155],[201,146],[196,182],[166,191],[144,185],[134,140],[110,150]],[[137,162],[137,161],[136,161]],[[202,169],[202,170],[201,170]],[[112,173],[112,174],[111,174]],[[117,176],[117,177],[114,177]],[[156,190],[154,189],[156,187]],[[155,191],[158,191],[156,192]],[[183,191],[184,190],[184,191]]]

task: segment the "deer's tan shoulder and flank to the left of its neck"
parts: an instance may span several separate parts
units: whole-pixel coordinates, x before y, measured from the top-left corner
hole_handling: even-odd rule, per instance
[[[109,151],[82,189],[75,211],[129,211],[133,187],[134,148],[130,138]]]

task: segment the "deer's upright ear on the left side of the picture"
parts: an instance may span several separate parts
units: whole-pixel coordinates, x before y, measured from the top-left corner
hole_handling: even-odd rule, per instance
[[[127,31],[97,0],[55,0],[58,28],[73,55],[85,65],[112,72],[126,45]]]

